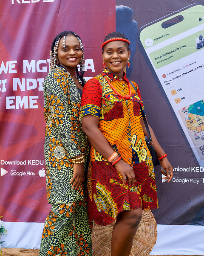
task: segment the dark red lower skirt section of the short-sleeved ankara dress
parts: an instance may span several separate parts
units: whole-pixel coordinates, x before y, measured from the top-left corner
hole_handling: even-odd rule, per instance
[[[154,173],[150,175],[151,157],[133,165],[135,183],[123,185],[122,176],[114,166],[91,162],[88,170],[88,214],[99,225],[111,224],[124,210],[158,207]]]

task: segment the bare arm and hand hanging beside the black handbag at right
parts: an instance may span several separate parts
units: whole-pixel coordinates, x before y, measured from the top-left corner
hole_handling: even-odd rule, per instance
[[[143,118],[140,119],[140,123],[142,125],[142,129],[144,131],[144,135],[148,137],[148,134],[147,134],[147,130],[145,128],[145,125],[144,125],[144,120]],[[161,148],[161,146],[159,145],[159,142],[158,140],[156,139],[156,136],[152,130],[152,128],[150,127],[150,125],[148,124],[149,126],[149,129],[150,129],[150,134],[151,134],[151,137],[152,137],[152,142],[151,144],[154,146],[155,150],[156,150],[156,154],[157,154],[157,157],[161,157],[165,154],[164,150]],[[164,168],[164,170],[166,171],[166,173],[164,172],[164,170],[161,169],[161,173],[167,177],[164,177],[163,179],[166,180],[168,179],[167,182],[170,182],[170,180],[173,178],[173,168],[171,166],[171,164],[169,163],[167,157],[164,157],[160,160],[160,165],[162,168]]]

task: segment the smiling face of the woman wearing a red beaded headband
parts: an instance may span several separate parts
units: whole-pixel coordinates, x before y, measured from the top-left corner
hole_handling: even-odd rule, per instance
[[[123,69],[130,58],[130,50],[127,50],[127,43],[124,41],[112,41],[105,44],[102,57],[105,66],[114,75],[122,77]]]

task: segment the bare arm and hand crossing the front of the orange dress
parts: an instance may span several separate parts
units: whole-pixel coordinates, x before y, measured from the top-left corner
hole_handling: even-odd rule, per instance
[[[102,132],[99,130],[98,125],[98,117],[92,115],[86,115],[82,117],[82,130],[87,135],[91,145],[96,149],[96,151],[102,154],[103,157],[108,159],[115,151],[108,143],[108,140],[106,140]],[[117,158],[118,156],[116,156],[111,161],[111,163],[113,163]],[[126,180],[128,179],[128,185],[133,186],[135,181],[135,174],[132,167],[122,160],[119,160],[118,163],[116,163],[114,166],[117,172],[122,175],[123,184],[125,185]]]

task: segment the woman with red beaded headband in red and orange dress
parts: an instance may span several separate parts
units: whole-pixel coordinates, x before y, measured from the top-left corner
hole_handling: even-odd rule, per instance
[[[81,103],[82,129],[91,143],[88,214],[100,225],[116,219],[112,256],[130,254],[142,209],[158,207],[152,157],[144,141],[147,131],[141,95],[137,84],[133,82],[135,90],[123,72],[130,59],[129,45],[119,32],[105,37],[105,68],[85,84]],[[150,133],[170,181],[172,166],[151,128]]]

